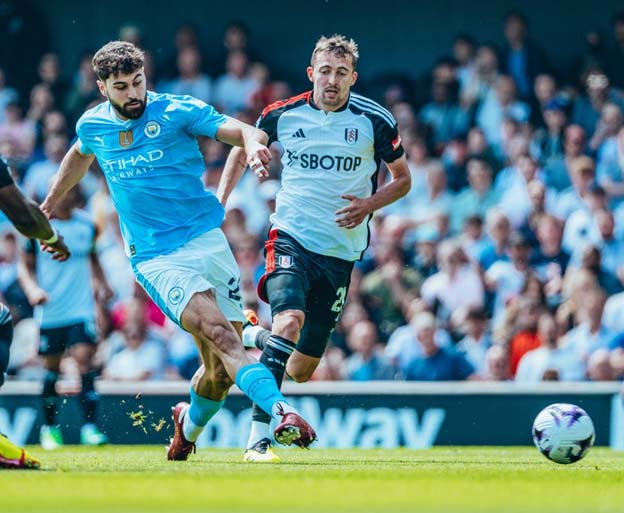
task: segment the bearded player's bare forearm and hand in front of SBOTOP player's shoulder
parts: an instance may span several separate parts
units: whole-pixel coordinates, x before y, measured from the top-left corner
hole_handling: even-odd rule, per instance
[[[229,118],[217,130],[217,139],[232,146],[244,148],[247,164],[258,176],[267,176],[271,162],[271,152],[266,144],[269,136],[262,130],[247,123]]]

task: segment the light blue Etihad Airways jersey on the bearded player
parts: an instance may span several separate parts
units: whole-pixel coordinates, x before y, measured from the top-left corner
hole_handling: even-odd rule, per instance
[[[105,102],[78,120],[79,150],[95,154],[104,172],[133,265],[221,225],[196,137],[214,138],[227,119],[192,96],[150,91],[139,119],[123,121]]]

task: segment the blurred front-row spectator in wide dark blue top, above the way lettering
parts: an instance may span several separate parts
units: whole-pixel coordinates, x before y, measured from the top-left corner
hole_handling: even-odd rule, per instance
[[[436,320],[429,313],[414,319],[421,355],[409,361],[403,370],[408,381],[463,381],[476,379],[474,367],[463,354],[440,347],[435,341]]]

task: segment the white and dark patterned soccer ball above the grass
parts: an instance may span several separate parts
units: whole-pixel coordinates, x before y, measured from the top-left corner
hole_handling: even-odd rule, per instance
[[[574,463],[583,458],[594,443],[594,423],[574,404],[551,404],[533,422],[533,442],[555,463]]]

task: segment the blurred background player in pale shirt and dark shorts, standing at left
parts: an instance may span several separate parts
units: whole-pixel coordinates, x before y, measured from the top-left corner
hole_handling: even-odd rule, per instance
[[[74,187],[56,204],[50,218],[50,224],[65,234],[72,247],[72,259],[61,265],[30,240],[18,266],[20,285],[34,307],[34,317],[40,327],[39,354],[46,374],[41,395],[44,424],[39,438],[41,446],[47,450],[63,445],[63,435],[56,422],[61,406],[56,384],[66,351],[72,355],[80,372],[80,405],[84,413],[80,443],[103,445],[108,441],[96,425],[94,290],[103,301],[110,299],[113,293],[96,253],[95,224],[86,212],[75,209],[78,194],[78,187]]]

